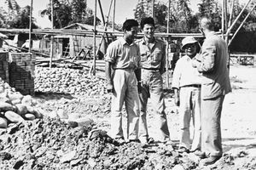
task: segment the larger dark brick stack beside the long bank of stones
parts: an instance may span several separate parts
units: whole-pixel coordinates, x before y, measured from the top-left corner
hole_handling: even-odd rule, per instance
[[[9,85],[20,94],[34,95],[35,62],[30,53],[9,53]]]

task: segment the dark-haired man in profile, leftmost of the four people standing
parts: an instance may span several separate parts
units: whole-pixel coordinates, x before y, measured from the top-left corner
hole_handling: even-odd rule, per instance
[[[109,44],[105,55],[107,90],[112,95],[109,135],[119,144],[125,143],[122,128],[122,108],[127,112],[127,139],[138,140],[139,97],[135,73],[140,65],[139,50],[134,38],[137,35],[137,20],[125,20],[124,36]],[[113,71],[113,72],[112,72]]]

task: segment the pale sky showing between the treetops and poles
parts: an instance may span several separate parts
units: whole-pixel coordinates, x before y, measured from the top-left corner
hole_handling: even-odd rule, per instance
[[[89,8],[95,8],[96,0],[87,0],[87,5]],[[161,0],[162,2],[167,2],[167,0]],[[0,0],[0,5],[3,0]],[[20,7],[25,7],[26,5],[31,5],[31,0],[16,0]],[[41,28],[51,27],[48,17],[42,18],[39,15],[39,11],[42,11],[46,8],[50,0],[33,0],[33,17],[37,20],[37,25]],[[108,9],[110,6],[111,0],[102,0],[102,10],[104,15],[108,15]],[[136,7],[138,0],[116,0],[116,9],[115,9],[115,23],[122,24],[126,19],[134,18],[133,9]],[[200,0],[190,0],[190,5],[193,10],[196,10],[197,3]],[[97,3],[97,17],[102,20],[102,15],[100,12],[99,4]],[[2,5],[1,5],[2,6]],[[112,4],[113,6],[113,4]],[[113,8],[111,8],[110,18],[113,18]]]

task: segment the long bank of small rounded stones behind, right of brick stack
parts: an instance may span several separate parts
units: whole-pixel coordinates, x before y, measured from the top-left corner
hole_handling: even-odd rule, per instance
[[[35,91],[85,96],[106,93],[106,81],[88,75],[88,71],[68,68],[36,67]]]

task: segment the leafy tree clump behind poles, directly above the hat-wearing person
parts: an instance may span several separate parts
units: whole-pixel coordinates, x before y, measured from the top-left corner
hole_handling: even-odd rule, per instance
[[[151,16],[152,0],[140,0],[135,8],[134,16],[140,21],[143,17]],[[149,6],[149,8],[148,8]],[[165,3],[157,2],[154,4],[154,20],[157,26],[156,31],[165,32],[167,24],[168,8]],[[198,20],[191,14],[189,0],[172,1],[170,9],[170,32],[191,32],[198,26]]]

